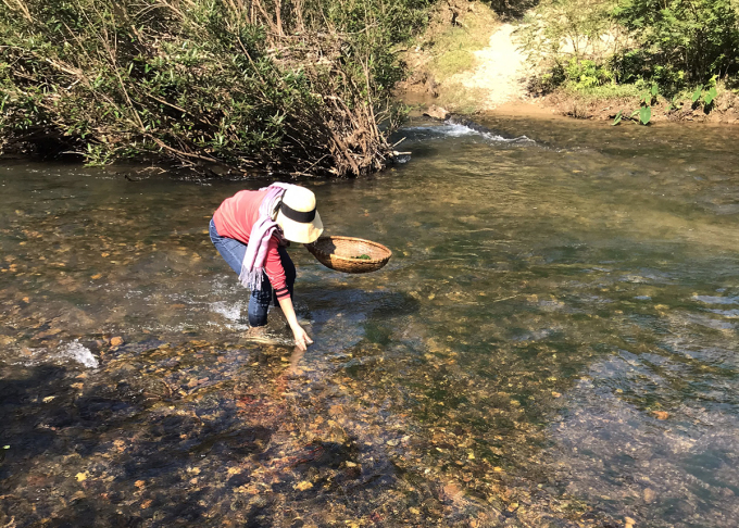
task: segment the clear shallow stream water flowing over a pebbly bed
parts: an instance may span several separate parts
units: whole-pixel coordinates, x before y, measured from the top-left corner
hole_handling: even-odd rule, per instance
[[[290,250],[303,356],[206,235],[263,180],[0,166],[0,526],[739,524],[739,130],[486,125],[304,183],[393,257]]]

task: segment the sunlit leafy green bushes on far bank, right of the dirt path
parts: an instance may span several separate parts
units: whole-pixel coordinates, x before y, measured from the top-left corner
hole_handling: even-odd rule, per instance
[[[735,0],[543,0],[519,30],[544,73],[537,91],[567,85],[656,83],[662,93],[739,73]]]

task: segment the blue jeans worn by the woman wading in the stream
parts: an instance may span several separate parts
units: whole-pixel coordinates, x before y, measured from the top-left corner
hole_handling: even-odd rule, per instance
[[[241,273],[241,262],[243,262],[243,255],[247,253],[247,244],[239,242],[234,238],[222,237],[218,235],[218,230],[215,228],[215,224],[211,221],[210,226],[211,241],[215,249],[218,250],[221,256],[224,257],[226,263],[236,272],[237,275]],[[292,264],[290,255],[287,254],[287,250],[279,246],[277,248],[279,253],[279,259],[283,262],[283,267],[285,268],[285,278],[287,279],[287,290],[290,292],[290,299],[292,299],[292,289],[296,284],[296,266]],[[275,306],[278,305],[277,298],[272,291],[272,285],[266,275],[262,275],[262,289],[254,290],[251,292],[249,298],[249,325],[250,326],[264,326],[267,324],[267,310],[270,310],[270,302],[273,301]]]

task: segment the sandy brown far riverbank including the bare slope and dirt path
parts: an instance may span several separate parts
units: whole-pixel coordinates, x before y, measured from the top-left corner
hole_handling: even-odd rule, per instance
[[[485,24],[472,22],[478,18]],[[411,75],[398,85],[397,96],[421,112],[441,106],[467,115],[561,115],[594,121],[613,121],[621,112],[623,123],[643,105],[647,90],[636,85],[542,89],[533,61],[523,51],[521,27],[501,22],[474,2],[437,10],[427,32],[405,52]],[[486,45],[480,46],[481,41]],[[450,63],[454,66],[438,66]],[[710,104],[703,97],[694,103],[688,92],[671,99],[657,95],[650,103],[651,123],[739,123],[739,97],[721,85]],[[638,116],[634,120],[638,122]]]

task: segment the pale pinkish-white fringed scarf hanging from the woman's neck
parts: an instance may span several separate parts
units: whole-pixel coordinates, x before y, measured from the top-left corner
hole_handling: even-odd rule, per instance
[[[272,217],[283,200],[283,194],[285,194],[285,191],[290,187],[290,184],[275,183],[270,187],[260,189],[260,191],[266,190],[267,193],[264,199],[262,199],[262,203],[259,206],[259,217],[251,227],[247,252],[243,255],[241,273],[239,274],[241,284],[252,291],[262,289],[264,261],[267,256],[270,238],[278,227],[277,223],[272,219]]]

